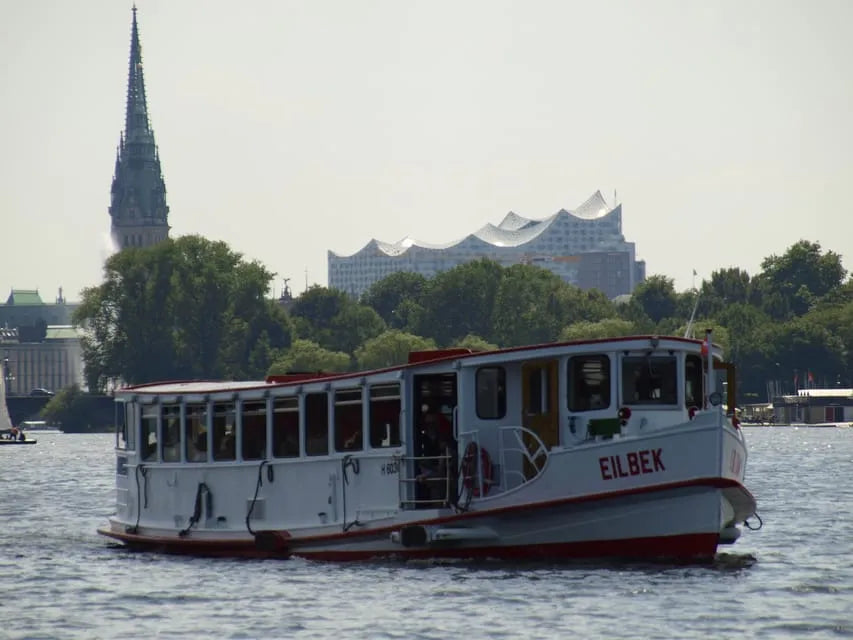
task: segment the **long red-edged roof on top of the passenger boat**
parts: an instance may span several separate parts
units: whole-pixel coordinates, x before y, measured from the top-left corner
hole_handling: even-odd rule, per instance
[[[268,376],[265,380],[174,380],[166,382],[153,382],[132,385],[116,390],[115,395],[119,399],[128,396],[141,395],[180,395],[180,396],[202,396],[207,394],[218,394],[226,392],[241,392],[256,390],[258,396],[274,388],[294,387],[314,382],[331,382],[334,380],[356,379],[361,380],[365,376],[376,379],[386,378],[391,382],[407,369],[423,367],[434,367],[448,362],[460,361],[460,366],[482,366],[487,364],[499,364],[501,362],[512,362],[531,359],[531,357],[554,357],[565,353],[567,348],[577,351],[595,350],[624,350],[637,351],[648,350],[650,343],[652,348],[675,349],[678,347],[695,350],[702,344],[702,340],[694,338],[680,338],[677,336],[638,335],[624,336],[618,338],[601,338],[591,340],[573,340],[570,342],[551,342],[546,344],[526,345],[521,347],[508,347],[493,351],[472,351],[464,348],[434,349],[429,351],[413,351],[409,354],[406,364],[387,367],[385,369],[374,369],[368,371],[348,371],[345,373],[328,372],[305,372],[291,373],[287,375]],[[692,347],[692,349],[690,348]],[[720,353],[719,345],[713,345],[714,353]],[[254,395],[254,394],[253,394]]]

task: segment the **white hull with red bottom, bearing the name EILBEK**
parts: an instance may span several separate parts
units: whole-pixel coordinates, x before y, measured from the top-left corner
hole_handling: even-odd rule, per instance
[[[696,455],[708,447],[719,450],[719,456]],[[255,524],[252,534],[238,517],[228,514],[217,519],[222,511],[213,507],[210,517],[183,535],[186,519],[176,527],[145,518],[139,524],[135,518],[113,518],[101,533],[135,547],[252,557],[708,561],[719,544],[737,538],[736,525],[754,513],[755,501],[742,486],[743,469],[732,471],[731,460],[744,456],[742,439],[734,430],[696,424],[676,434],[656,433],[553,452],[548,468],[534,481],[493,497],[476,498],[463,512],[399,510],[348,524],[339,513],[335,523],[302,527],[268,518],[263,525]],[[275,475],[285,472],[279,468]],[[173,469],[159,478],[172,489],[167,493],[163,487],[163,496],[174,496],[175,485],[182,484],[177,473]],[[148,500],[156,504],[150,494],[158,491],[158,478],[151,470],[148,474]],[[215,503],[225,487],[218,487],[211,478],[207,483]],[[194,486],[189,483],[190,488]],[[275,491],[275,483],[262,487],[268,510]],[[191,513],[191,494],[185,493],[184,498],[183,512]],[[229,521],[237,521],[239,528],[224,527],[222,523]]]

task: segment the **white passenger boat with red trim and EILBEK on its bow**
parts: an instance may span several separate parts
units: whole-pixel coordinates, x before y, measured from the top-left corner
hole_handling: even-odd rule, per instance
[[[98,531],[197,555],[710,561],[757,528],[734,387],[710,334],[127,387]]]

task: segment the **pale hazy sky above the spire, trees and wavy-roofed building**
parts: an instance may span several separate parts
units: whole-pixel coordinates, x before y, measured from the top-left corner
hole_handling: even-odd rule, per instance
[[[0,299],[108,255],[131,2],[0,0]],[[647,273],[853,269],[853,2],[138,0],[172,236],[325,285],[326,251],[448,242],[597,189]]]

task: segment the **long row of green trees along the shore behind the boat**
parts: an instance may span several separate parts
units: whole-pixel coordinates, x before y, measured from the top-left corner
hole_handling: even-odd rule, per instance
[[[435,347],[684,335],[694,313],[697,334],[712,328],[737,365],[741,402],[765,400],[768,382],[786,393],[795,378],[851,384],[853,280],[838,254],[805,240],[765,258],[755,275],[721,268],[682,292],[652,275],[625,301],[540,267],[480,259],[433,278],[394,273],[360,299],[314,286],[285,310],[267,297],[274,276],[199,236],[112,256],[74,316],[85,329],[89,389],[380,368]]]

